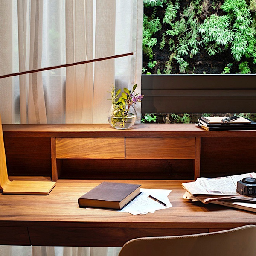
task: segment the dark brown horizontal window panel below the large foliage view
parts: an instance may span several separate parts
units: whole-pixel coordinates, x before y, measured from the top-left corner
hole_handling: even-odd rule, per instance
[[[256,113],[255,74],[142,75],[141,113]]]

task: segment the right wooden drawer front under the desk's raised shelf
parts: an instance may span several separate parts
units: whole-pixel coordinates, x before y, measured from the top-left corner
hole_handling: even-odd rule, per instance
[[[126,138],[125,149],[126,159],[195,159],[195,138]]]

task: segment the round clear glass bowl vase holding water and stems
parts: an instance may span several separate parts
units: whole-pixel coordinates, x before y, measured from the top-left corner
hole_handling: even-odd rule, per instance
[[[129,129],[134,125],[136,116],[136,110],[132,105],[111,105],[108,122],[115,129]]]

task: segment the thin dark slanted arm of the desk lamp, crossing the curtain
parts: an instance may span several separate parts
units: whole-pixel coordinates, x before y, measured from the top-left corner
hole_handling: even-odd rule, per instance
[[[91,60],[87,60],[87,61],[79,61],[79,62],[74,62],[74,63],[69,63],[69,64],[58,65],[58,66],[43,67],[43,68],[39,68],[36,70],[27,70],[27,71],[7,74],[7,75],[0,76],[0,79],[10,77],[10,76],[18,76],[18,75],[25,75],[25,74],[35,73],[35,72],[40,72],[40,71],[45,71],[45,70],[52,70],[52,69],[61,68],[61,67],[70,67],[70,66],[75,66],[75,65],[80,65],[80,64],[86,64],[86,63],[90,63],[90,62],[105,61],[105,60],[109,60],[112,58],[120,58],[120,57],[129,56],[129,55],[133,55],[133,52],[119,54],[119,55],[113,55],[113,56],[108,56],[108,57],[103,57],[103,58],[96,58],[96,59],[91,59]]]

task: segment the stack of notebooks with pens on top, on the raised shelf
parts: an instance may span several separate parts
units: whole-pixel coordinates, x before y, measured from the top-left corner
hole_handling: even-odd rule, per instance
[[[202,116],[198,119],[199,127],[207,131],[225,131],[225,130],[255,130],[256,122],[239,116],[221,117]]]

